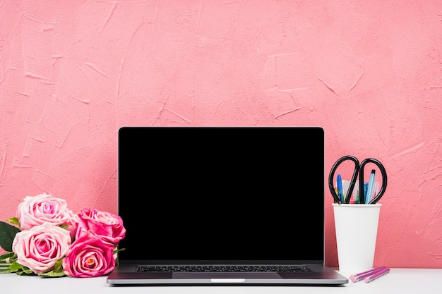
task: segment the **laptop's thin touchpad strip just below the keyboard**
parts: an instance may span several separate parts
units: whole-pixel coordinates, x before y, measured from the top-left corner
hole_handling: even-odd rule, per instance
[[[172,274],[173,278],[281,278],[279,274],[274,271],[268,273],[263,272],[175,272]]]

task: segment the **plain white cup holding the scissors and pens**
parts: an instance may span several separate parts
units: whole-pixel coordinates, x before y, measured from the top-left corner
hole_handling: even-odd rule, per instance
[[[372,269],[382,204],[332,205],[339,271],[357,274]]]

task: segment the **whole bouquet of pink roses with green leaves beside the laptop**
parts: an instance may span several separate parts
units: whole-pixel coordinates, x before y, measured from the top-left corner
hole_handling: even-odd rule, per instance
[[[0,221],[0,247],[8,252],[0,256],[8,265],[0,272],[19,275],[109,274],[126,234],[121,217],[96,209],[74,214],[65,200],[47,194],[25,197],[8,221]]]

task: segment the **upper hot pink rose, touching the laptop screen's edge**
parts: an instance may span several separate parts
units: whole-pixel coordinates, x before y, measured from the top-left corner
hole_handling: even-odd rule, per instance
[[[87,235],[89,232],[104,241],[118,245],[126,235],[126,228],[123,226],[121,217],[115,214],[100,212],[96,209],[81,209],[78,216],[80,220],[76,238]]]

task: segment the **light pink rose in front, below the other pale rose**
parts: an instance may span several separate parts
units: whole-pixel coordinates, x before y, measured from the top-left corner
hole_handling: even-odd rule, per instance
[[[16,233],[12,249],[19,264],[35,274],[42,274],[54,269],[55,263],[68,253],[70,245],[69,231],[43,223]]]

